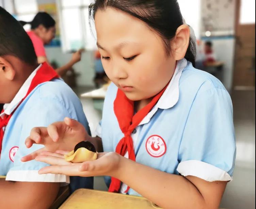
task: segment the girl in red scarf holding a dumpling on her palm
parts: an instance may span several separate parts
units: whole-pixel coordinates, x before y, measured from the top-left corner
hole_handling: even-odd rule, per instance
[[[177,1],[96,0],[90,15],[112,81],[98,137],[69,118],[36,127],[26,146],[45,147],[22,161],[53,165],[41,174],[104,175],[109,191],[162,208],[218,208],[234,170],[232,103],[219,80],[192,66],[194,43]],[[104,153],[68,163],[55,152],[82,140]]]

